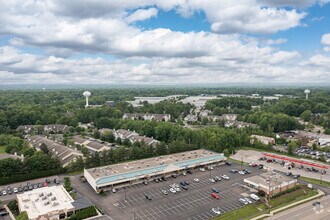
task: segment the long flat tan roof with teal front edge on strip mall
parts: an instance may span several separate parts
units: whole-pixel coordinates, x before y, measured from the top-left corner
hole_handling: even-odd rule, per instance
[[[136,160],[128,163],[114,164],[86,170],[96,180],[97,184],[115,182],[122,179],[179,170],[192,165],[225,160],[223,154],[208,150],[195,150],[165,156]]]

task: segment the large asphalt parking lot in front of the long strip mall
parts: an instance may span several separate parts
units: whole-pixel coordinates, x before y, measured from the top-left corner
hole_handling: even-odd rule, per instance
[[[257,168],[248,168],[251,174],[240,175],[230,173],[231,169],[240,170],[240,165],[221,165],[214,170],[205,172],[196,171],[187,176],[169,178],[160,183],[149,182],[149,184],[137,184],[126,188],[118,189],[117,193],[108,193],[105,196],[98,195],[88,183],[82,183],[79,176],[72,178],[74,188],[80,194],[87,196],[94,204],[102,208],[113,219],[209,219],[216,214],[212,208],[219,207],[221,213],[225,213],[243,204],[238,201],[240,197],[250,194],[249,190],[242,187],[243,179],[262,173]],[[210,176],[221,176],[226,174],[229,180],[212,183]],[[198,178],[199,182],[195,182]],[[181,189],[181,192],[172,194],[169,192],[169,185],[179,184],[181,181],[189,181],[188,190]],[[211,197],[212,188],[219,188],[220,199]],[[167,190],[164,195],[162,190]],[[149,195],[152,200],[147,200]]]

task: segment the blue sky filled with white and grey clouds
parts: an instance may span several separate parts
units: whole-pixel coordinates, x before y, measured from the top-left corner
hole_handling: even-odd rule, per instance
[[[0,85],[330,83],[330,0],[0,5]]]

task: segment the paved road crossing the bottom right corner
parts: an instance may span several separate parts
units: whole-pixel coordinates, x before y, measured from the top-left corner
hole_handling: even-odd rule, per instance
[[[320,205],[313,206],[313,202],[320,201]],[[266,218],[267,220],[328,220],[330,217],[330,196],[323,197],[299,205],[295,208],[283,211]]]

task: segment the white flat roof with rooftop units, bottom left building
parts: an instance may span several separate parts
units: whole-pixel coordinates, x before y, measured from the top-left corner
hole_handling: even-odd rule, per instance
[[[34,189],[17,195],[20,211],[26,211],[29,219],[47,215],[50,212],[73,210],[74,200],[63,186]]]

